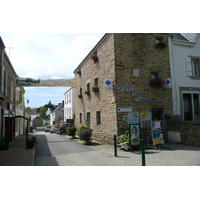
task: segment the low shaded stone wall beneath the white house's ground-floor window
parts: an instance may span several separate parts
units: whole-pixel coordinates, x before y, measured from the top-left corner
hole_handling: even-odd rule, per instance
[[[200,146],[200,122],[170,120],[167,130],[180,132],[183,144]]]

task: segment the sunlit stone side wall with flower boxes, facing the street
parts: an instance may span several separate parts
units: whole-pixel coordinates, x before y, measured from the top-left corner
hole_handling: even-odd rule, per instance
[[[90,56],[97,52],[98,62],[94,63]],[[81,70],[81,76],[76,71]],[[113,90],[104,89],[104,80],[115,80],[114,73],[114,36],[107,35],[101,45],[97,45],[75,71],[77,78],[76,88],[76,119],[75,126],[87,125],[87,113],[90,113],[90,127],[93,129],[93,139],[113,142],[116,134],[116,105]],[[99,92],[94,93],[91,88],[98,78]],[[90,84],[90,95],[84,94],[87,84]],[[82,88],[82,98],[78,98]],[[96,112],[100,111],[101,124],[97,125]],[[80,113],[82,123],[80,123]]]

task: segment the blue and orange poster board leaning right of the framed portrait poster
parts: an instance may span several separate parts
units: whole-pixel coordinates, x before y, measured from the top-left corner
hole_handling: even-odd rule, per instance
[[[152,121],[152,139],[153,145],[164,144],[163,129],[161,120]]]

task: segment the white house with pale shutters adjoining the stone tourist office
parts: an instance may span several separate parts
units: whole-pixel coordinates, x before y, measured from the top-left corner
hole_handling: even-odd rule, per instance
[[[169,40],[173,115],[200,121],[200,34],[172,34]]]

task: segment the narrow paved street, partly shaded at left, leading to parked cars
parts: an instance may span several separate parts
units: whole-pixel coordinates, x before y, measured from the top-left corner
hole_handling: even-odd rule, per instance
[[[49,132],[34,133],[37,137],[35,166],[125,166],[113,155],[96,151],[79,139]],[[99,145],[100,146],[100,145]]]

